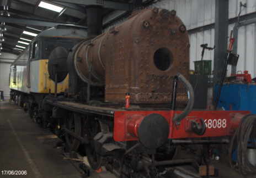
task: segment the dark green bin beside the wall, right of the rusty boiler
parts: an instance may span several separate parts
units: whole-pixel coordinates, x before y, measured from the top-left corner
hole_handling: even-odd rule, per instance
[[[198,60],[194,61],[194,64],[196,73],[201,75],[211,75],[211,60]]]

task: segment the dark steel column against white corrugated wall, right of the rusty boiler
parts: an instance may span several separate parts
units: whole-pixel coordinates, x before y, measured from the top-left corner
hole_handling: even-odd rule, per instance
[[[215,104],[215,85],[220,82],[224,72],[225,52],[228,37],[228,0],[215,1],[215,51],[214,51],[214,85],[212,101]]]

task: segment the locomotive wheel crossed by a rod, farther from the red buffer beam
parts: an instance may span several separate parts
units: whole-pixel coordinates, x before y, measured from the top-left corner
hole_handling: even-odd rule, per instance
[[[74,113],[68,113],[67,118],[65,119],[65,127],[68,130],[81,135],[81,119],[79,115]],[[80,141],[77,138],[74,138],[67,132],[65,132],[66,145],[71,151],[77,151]]]

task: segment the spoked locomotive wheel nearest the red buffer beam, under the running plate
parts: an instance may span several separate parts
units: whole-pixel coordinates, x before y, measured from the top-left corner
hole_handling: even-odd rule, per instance
[[[93,138],[97,133],[101,132],[100,123],[97,119],[88,118],[88,123],[85,126],[85,137],[86,137],[86,155],[91,168],[97,170],[102,166],[103,158],[96,153]]]

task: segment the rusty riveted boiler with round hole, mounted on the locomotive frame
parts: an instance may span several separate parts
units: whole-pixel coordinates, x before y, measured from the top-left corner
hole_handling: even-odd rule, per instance
[[[174,10],[137,10],[124,23],[79,43],[72,56],[84,82],[105,85],[105,101],[125,102],[129,92],[131,103],[170,103],[173,75],[188,77],[188,32]],[[184,89],[180,84],[177,102],[186,101]]]

